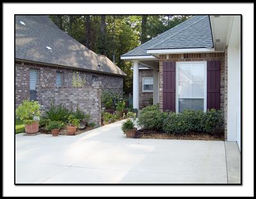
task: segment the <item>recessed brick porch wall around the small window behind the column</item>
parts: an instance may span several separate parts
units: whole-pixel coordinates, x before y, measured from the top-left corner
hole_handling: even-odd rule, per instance
[[[140,69],[139,70],[139,107],[140,109],[148,106],[148,99],[153,98],[153,92],[143,92],[143,77],[153,77],[153,70]]]

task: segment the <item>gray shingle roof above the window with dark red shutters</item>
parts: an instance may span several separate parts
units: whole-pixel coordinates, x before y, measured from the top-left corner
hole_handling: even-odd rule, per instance
[[[181,49],[213,47],[208,15],[195,15],[179,25],[152,38],[122,56],[145,56],[148,49]]]

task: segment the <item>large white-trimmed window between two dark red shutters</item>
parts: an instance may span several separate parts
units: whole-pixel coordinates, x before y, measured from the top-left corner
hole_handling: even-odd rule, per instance
[[[206,61],[177,62],[176,67],[176,112],[206,111]]]

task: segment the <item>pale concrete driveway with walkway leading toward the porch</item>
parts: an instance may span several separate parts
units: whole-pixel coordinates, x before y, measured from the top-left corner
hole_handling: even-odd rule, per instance
[[[122,122],[77,136],[17,134],[15,183],[226,184],[230,177],[240,183],[234,143],[228,166],[224,141],[129,139]]]

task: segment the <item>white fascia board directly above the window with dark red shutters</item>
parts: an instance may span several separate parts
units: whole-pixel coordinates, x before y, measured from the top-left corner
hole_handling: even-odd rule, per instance
[[[214,52],[214,48],[196,48],[196,49],[153,49],[147,50],[148,54],[175,54],[175,53],[193,53],[193,52]]]

